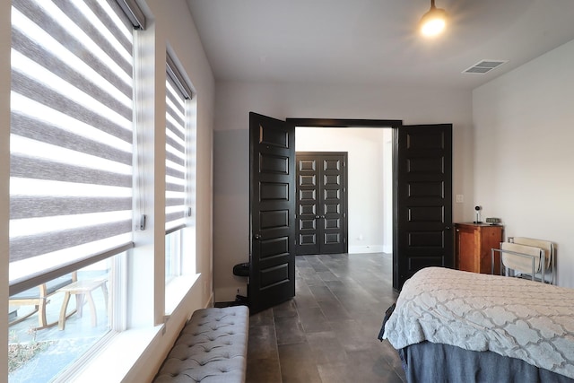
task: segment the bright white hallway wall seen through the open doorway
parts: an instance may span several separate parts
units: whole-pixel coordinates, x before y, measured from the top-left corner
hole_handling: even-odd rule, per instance
[[[385,128],[325,128],[298,126],[297,152],[348,152],[347,199],[349,253],[385,251],[385,218],[392,210],[384,209],[392,185],[383,184]]]

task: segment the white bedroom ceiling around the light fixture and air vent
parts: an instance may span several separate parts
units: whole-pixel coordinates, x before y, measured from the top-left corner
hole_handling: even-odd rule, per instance
[[[474,89],[574,39],[574,0],[187,0],[217,81]],[[488,74],[463,74],[483,59]]]

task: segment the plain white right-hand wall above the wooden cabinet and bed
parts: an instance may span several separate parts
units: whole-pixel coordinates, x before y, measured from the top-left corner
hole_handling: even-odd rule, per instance
[[[557,244],[574,287],[574,40],[473,92],[474,196],[506,236]]]

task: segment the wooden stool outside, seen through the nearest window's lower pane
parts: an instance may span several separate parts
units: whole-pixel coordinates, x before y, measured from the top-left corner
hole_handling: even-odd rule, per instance
[[[104,294],[104,300],[106,302],[106,309],[108,309],[108,287],[106,283],[108,279],[96,279],[96,280],[86,280],[86,281],[77,281],[74,283],[70,283],[67,286],[58,290],[58,292],[65,292],[64,301],[62,302],[62,309],[60,309],[60,318],[57,322],[57,327],[60,330],[64,330],[65,328],[65,311],[68,308],[68,303],[70,301],[70,296],[72,294],[75,295],[75,311],[78,313],[80,318],[82,318],[82,308],[84,303],[84,297],[87,298],[88,304],[90,305],[91,310],[91,326],[95,327],[98,325],[98,317],[96,314],[96,305],[93,302],[93,298],[91,297],[91,292],[96,290],[98,287],[101,287],[101,292]],[[71,313],[72,314],[72,313]],[[70,315],[71,315],[70,314]],[[69,317],[69,315],[68,315]]]

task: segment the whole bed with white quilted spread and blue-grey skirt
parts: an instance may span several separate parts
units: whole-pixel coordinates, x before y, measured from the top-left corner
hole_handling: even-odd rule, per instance
[[[574,382],[574,289],[424,268],[404,283],[379,339],[411,382]]]

